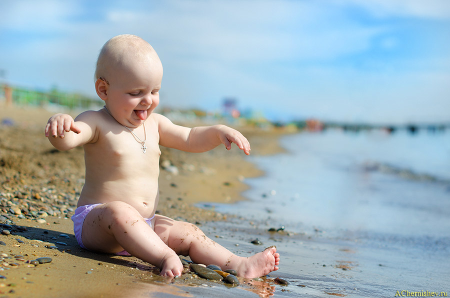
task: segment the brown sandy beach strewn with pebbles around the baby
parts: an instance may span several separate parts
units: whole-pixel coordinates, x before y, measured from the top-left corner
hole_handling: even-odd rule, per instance
[[[157,276],[156,267],[135,257],[99,254],[78,246],[70,216],[84,181],[83,150],[58,151],[51,146],[43,128],[52,113],[36,107],[0,106],[1,297],[208,293],[204,287],[211,281],[206,279],[162,278]],[[281,150],[277,145],[279,131],[238,128],[249,139],[252,154]],[[226,151],[219,146],[206,153],[161,150],[157,213],[201,228],[213,221],[224,222],[229,215],[198,208],[194,203],[244,199],[240,193],[247,186],[242,180],[262,174],[236,147]],[[215,233],[221,231],[215,228]],[[50,257],[51,262],[29,263],[38,257]],[[238,288],[251,295],[270,295],[273,290],[271,280],[240,281]],[[210,288],[211,296],[233,295],[225,285]],[[233,290],[241,292],[238,288]]]

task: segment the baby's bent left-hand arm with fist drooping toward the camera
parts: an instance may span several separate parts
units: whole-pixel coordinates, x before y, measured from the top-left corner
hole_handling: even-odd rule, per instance
[[[95,129],[92,125],[93,111],[79,114],[75,120],[68,114],[54,114],[45,125],[45,136],[59,150],[69,150],[92,140]]]

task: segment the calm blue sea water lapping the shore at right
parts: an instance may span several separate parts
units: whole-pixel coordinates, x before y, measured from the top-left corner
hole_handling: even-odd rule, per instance
[[[246,200],[199,204],[233,215],[206,228],[233,252],[277,246],[279,269],[244,296],[450,292],[450,129],[326,129],[280,144],[248,157],[264,175],[244,180]]]

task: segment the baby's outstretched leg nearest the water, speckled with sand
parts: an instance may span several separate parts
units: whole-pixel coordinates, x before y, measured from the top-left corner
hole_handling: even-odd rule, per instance
[[[277,270],[279,254],[274,246],[250,257],[237,256],[206,237],[195,225],[156,215],[154,231],[177,254],[189,255],[193,262],[235,269],[239,276],[253,278]]]

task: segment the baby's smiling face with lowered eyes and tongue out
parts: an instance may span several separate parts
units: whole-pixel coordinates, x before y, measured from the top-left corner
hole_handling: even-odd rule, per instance
[[[104,77],[109,83],[105,105],[122,125],[141,125],[159,103],[162,65],[149,54],[144,59],[128,59]]]

